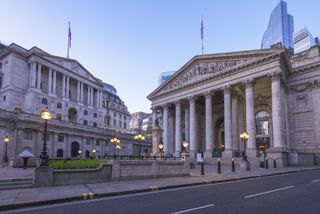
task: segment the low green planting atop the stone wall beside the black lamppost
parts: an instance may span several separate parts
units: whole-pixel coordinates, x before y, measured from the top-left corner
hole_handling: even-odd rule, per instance
[[[100,160],[77,159],[77,160],[52,160],[50,166],[53,169],[92,169],[98,168]]]

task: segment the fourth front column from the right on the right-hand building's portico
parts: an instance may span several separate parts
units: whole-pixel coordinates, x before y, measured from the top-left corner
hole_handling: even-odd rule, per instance
[[[204,153],[205,158],[212,158],[213,147],[213,129],[212,129],[212,94],[205,94],[206,99],[206,151]]]

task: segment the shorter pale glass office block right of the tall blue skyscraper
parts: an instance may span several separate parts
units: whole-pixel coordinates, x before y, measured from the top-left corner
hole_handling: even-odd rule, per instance
[[[294,54],[309,50],[316,44],[315,39],[306,27],[294,33]]]

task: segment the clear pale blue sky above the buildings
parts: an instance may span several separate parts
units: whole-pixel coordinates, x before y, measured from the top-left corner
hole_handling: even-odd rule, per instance
[[[130,113],[151,112],[161,72],[204,52],[259,49],[279,0],[0,0],[0,41],[70,58],[112,84]],[[320,36],[319,0],[287,0],[294,28]]]

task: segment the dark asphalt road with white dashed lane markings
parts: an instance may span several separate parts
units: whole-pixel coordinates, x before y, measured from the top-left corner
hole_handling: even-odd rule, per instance
[[[320,214],[320,170],[26,208],[6,213]]]

